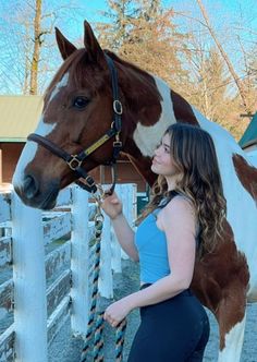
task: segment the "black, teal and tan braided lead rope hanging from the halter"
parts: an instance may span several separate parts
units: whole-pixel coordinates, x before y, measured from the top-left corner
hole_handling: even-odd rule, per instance
[[[81,362],[88,362],[88,353],[90,340],[94,335],[94,349],[93,349],[93,361],[103,361],[103,338],[102,331],[105,327],[103,314],[105,312],[96,313],[97,307],[97,295],[98,295],[98,279],[100,275],[100,250],[101,250],[101,233],[103,229],[103,215],[100,209],[101,196],[97,197],[94,195],[97,204],[97,212],[94,218],[95,221],[95,263],[93,273],[93,291],[91,291],[91,303],[89,309],[89,317],[87,323],[87,334],[85,345],[81,354]],[[94,327],[95,325],[95,327]],[[126,319],[121,321],[117,326],[115,330],[115,362],[122,362],[122,351],[124,345],[124,336],[126,329]]]

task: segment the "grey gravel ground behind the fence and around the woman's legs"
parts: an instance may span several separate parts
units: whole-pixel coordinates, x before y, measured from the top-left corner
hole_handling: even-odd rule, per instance
[[[131,261],[123,261],[123,273],[114,275],[114,300],[138,289],[138,266]],[[112,301],[101,299],[101,309]],[[208,312],[208,311],[207,311]],[[204,362],[216,362],[218,359],[218,325],[208,312],[211,334],[206,348]],[[257,304],[247,306],[247,322],[241,362],[257,362]],[[133,336],[139,323],[138,311],[133,311],[127,321],[124,343],[124,362],[127,359]],[[107,325],[105,328],[105,362],[114,362],[114,331]],[[61,328],[49,348],[49,362],[79,362],[83,341],[71,336],[70,321]],[[89,361],[90,362],[90,361]]]

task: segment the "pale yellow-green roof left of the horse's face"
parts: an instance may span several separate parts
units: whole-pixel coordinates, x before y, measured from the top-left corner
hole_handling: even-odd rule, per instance
[[[26,142],[42,109],[41,96],[0,96],[0,142]]]

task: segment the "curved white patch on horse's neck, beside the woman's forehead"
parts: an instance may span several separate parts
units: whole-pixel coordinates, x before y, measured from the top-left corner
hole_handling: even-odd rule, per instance
[[[133,138],[140,149],[143,156],[154,156],[157,143],[157,135],[162,135],[170,124],[176,122],[173,104],[171,100],[171,93],[168,85],[157,76],[154,76],[158,92],[160,93],[161,100],[161,114],[160,119],[154,125],[143,125],[140,120],[138,120],[136,129],[133,134]]]

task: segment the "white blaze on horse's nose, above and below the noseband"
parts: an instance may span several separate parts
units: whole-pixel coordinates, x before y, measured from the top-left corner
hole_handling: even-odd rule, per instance
[[[40,118],[40,121],[38,123],[38,126],[35,131],[35,133],[41,135],[41,136],[47,136],[49,133],[53,131],[56,126],[56,123],[45,123],[44,122],[44,117]],[[24,177],[25,177],[25,169],[27,165],[34,159],[36,156],[38,149],[38,144],[35,143],[34,141],[27,141],[25,147],[23,148],[23,152],[21,154],[21,157],[19,159],[15,172],[13,174],[13,185],[15,188],[20,188],[23,182],[24,182]]]

